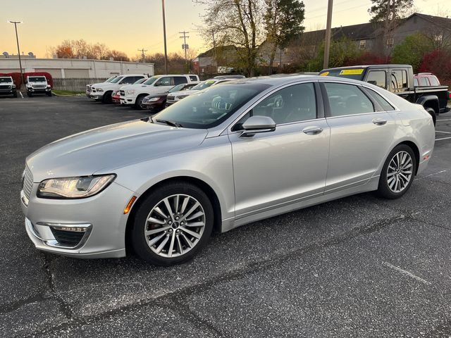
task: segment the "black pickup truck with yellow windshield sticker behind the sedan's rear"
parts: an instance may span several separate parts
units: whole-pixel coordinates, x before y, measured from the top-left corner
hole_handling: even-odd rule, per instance
[[[447,100],[450,99],[447,86],[414,87],[412,65],[355,65],[324,69],[319,75],[347,77],[387,89],[409,102],[424,106],[434,125],[435,115],[447,111]]]

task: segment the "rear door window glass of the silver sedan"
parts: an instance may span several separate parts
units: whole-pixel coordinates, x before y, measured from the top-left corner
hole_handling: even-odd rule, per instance
[[[325,83],[324,85],[332,116],[371,113],[374,111],[372,102],[359,87],[342,83]]]

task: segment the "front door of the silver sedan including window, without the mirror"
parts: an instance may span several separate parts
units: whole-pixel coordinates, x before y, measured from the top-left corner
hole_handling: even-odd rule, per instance
[[[235,217],[289,206],[323,194],[329,127],[318,84],[291,84],[269,94],[229,132],[235,180]],[[250,116],[273,118],[276,130],[240,137]]]

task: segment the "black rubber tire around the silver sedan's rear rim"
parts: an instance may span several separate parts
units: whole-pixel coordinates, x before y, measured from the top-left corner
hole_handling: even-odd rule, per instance
[[[410,175],[408,182],[402,179],[403,182],[407,182],[407,184],[404,183],[405,187],[402,189],[402,191],[394,192],[393,189],[390,189],[388,182],[389,180],[388,175],[390,175],[388,173],[388,166],[390,165],[390,162],[393,160],[394,156],[400,152],[405,152],[409,154],[412,160],[412,167],[409,168],[411,169],[409,171],[412,171],[412,175]],[[381,176],[379,177],[379,185],[377,190],[378,195],[385,199],[399,199],[402,195],[404,195],[407,192],[407,190],[409,190],[410,186],[412,185],[412,182],[414,182],[415,173],[416,173],[416,158],[412,148],[407,146],[407,144],[399,144],[395,146],[395,149],[390,151],[390,154],[388,155],[383,165]],[[391,175],[393,175],[393,173],[391,173]]]

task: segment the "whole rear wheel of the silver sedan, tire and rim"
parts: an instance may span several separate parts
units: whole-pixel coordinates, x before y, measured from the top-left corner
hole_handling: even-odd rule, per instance
[[[414,151],[406,144],[396,146],[383,165],[378,194],[386,199],[400,198],[412,185],[415,172]]]

